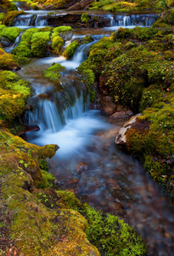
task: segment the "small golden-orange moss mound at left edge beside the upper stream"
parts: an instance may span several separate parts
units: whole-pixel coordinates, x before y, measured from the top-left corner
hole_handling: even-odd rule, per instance
[[[0,49],[0,68],[18,70],[20,66],[16,63],[14,55],[7,54],[3,49]]]

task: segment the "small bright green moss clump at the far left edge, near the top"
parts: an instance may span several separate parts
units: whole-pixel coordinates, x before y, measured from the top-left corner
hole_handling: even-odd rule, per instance
[[[4,25],[0,26],[0,37],[8,38],[12,42],[15,41],[15,38],[17,38],[20,35],[20,32],[22,30],[18,27],[7,27]]]

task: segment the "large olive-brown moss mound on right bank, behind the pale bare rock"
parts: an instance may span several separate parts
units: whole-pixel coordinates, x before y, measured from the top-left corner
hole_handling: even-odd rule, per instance
[[[128,149],[138,156],[150,176],[170,196],[173,195],[173,96],[170,90],[157,89],[156,86],[145,90],[141,104],[146,109],[141,119],[149,121],[149,128],[139,130],[138,125],[132,126],[126,135]]]

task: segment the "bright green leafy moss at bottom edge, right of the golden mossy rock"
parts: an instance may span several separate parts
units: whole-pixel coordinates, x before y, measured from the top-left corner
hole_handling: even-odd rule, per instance
[[[123,220],[85,206],[87,238],[105,255],[147,255],[147,249],[138,233]]]

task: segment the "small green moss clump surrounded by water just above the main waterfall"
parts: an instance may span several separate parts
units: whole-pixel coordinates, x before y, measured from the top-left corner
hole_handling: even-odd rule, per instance
[[[52,66],[45,69],[43,73],[46,79],[56,81],[56,80],[59,80],[60,73],[64,70],[65,70],[65,67],[57,63],[57,64],[52,64]]]

